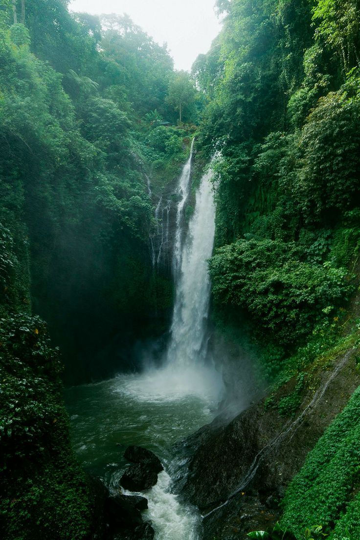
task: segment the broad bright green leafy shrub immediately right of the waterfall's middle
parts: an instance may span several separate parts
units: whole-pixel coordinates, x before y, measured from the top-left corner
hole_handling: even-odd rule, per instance
[[[239,240],[209,263],[215,299],[245,309],[258,329],[291,343],[354,290],[344,268],[301,261],[293,242]]]

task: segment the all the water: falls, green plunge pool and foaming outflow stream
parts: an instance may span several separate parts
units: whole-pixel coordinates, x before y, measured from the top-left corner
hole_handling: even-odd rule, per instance
[[[212,255],[215,232],[212,172],[200,181],[195,210],[186,227],[192,152],[193,145],[178,185],[173,254],[176,295],[162,367],[66,391],[80,461],[113,492],[120,489],[119,479],[126,468],[123,452],[129,444],[153,450],[164,463],[157,485],[142,494],[148,499],[144,517],[153,523],[155,540],[198,538],[200,516],[172,494],[166,470],[176,459],[173,444],[213,419],[222,392],[221,376],[207,354],[207,259]],[[160,205],[158,213],[159,209]],[[166,211],[165,219],[167,216]]]

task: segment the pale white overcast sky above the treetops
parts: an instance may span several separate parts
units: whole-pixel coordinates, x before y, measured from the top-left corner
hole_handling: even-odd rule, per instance
[[[175,69],[191,69],[220,31],[215,0],[72,0],[70,10],[129,15],[160,45],[168,44]]]

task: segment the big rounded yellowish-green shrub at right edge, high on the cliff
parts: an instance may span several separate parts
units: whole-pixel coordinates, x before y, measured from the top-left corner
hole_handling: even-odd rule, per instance
[[[332,219],[334,210],[354,207],[359,196],[360,101],[352,84],[318,100],[297,145],[302,157],[296,164],[291,190],[310,222]],[[288,178],[282,185],[288,187]]]

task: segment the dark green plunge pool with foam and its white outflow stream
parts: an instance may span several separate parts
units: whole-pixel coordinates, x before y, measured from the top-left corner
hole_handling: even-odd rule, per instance
[[[121,375],[67,389],[65,401],[79,461],[86,470],[104,478],[114,491],[121,489],[119,479],[126,467],[123,452],[129,444],[153,450],[167,469],[174,459],[173,444],[214,417],[216,402],[200,390],[196,384],[189,394],[181,377],[172,378],[164,372]],[[152,520],[156,540],[197,537],[199,515],[172,494],[166,470],[144,495],[149,502],[145,518]]]

